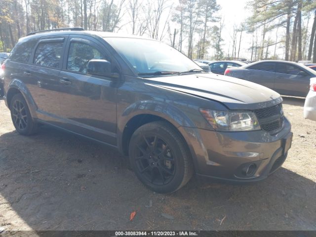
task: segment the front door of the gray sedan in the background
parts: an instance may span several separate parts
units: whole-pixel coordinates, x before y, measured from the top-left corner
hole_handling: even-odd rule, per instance
[[[306,97],[311,76],[300,67],[289,63],[277,63],[275,90],[281,95]]]

